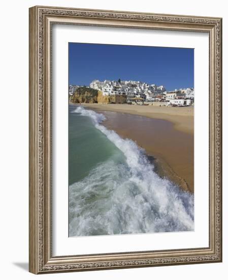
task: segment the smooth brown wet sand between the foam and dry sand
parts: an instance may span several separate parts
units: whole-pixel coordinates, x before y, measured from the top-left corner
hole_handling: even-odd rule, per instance
[[[107,128],[123,138],[132,139],[146,150],[161,177],[171,179],[184,190],[194,191],[193,133],[177,130],[175,124],[167,120],[98,111],[107,117],[103,123]]]

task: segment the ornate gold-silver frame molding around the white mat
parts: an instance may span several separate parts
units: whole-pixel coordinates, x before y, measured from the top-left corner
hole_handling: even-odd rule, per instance
[[[52,24],[209,34],[209,247],[52,256]],[[36,6],[29,9],[29,271],[36,274],[222,261],[222,19]]]

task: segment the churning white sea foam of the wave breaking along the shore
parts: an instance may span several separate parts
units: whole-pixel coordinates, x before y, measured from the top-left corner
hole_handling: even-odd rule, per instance
[[[101,123],[103,114],[77,107],[125,156],[98,164],[69,189],[70,236],[192,231],[193,195],[160,178],[145,151]]]

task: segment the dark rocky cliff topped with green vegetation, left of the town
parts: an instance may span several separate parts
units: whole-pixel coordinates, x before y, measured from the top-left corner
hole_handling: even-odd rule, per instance
[[[76,89],[74,95],[71,97],[71,101],[74,103],[97,103],[97,95],[97,90],[80,87]]]

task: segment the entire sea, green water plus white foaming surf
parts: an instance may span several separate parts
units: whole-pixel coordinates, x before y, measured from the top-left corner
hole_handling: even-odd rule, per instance
[[[194,230],[194,195],[155,172],[145,150],[69,105],[69,236]]]

